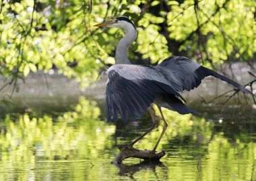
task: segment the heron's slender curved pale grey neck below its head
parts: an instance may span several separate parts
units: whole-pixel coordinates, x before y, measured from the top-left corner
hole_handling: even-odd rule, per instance
[[[131,23],[125,23],[125,25],[122,27],[125,29],[125,36],[117,45],[115,60],[116,64],[131,64],[129,58],[127,57],[127,51],[129,46],[131,46],[131,43],[135,40],[137,32]]]

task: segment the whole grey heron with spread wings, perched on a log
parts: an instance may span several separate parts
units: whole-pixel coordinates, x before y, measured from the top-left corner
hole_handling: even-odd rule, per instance
[[[157,66],[131,64],[127,57],[127,50],[135,40],[137,31],[133,22],[127,17],[117,17],[95,26],[118,27],[125,30],[125,36],[119,41],[115,52],[116,64],[107,70],[106,119],[110,121],[113,118],[114,121],[117,121],[119,113],[123,121],[126,121],[128,117],[135,119],[141,117],[148,109],[154,121],[146,133],[129,144],[131,146],[156,127],[156,120],[151,108],[151,104],[155,103],[164,121],[162,133],[152,149],[152,152],[155,152],[168,126],[161,107],[177,111],[182,115],[195,114],[195,111],[185,105],[185,99],[180,93],[196,88],[206,76],[220,78],[240,91],[252,94],[237,82],[183,56],[170,56]]]

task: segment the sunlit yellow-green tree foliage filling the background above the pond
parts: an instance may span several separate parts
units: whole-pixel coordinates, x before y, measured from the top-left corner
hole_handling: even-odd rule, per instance
[[[93,25],[125,15],[137,27],[133,63],[157,64],[174,55],[205,66],[255,58],[253,0],[3,0],[0,4],[0,74],[7,84],[29,72],[56,68],[82,86],[114,63],[123,32]]]

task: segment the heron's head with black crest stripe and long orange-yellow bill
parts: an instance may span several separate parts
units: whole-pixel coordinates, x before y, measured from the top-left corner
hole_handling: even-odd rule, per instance
[[[97,26],[97,27],[119,27],[119,28],[123,28],[125,30],[129,30],[129,29],[136,30],[136,27],[133,24],[133,22],[125,16],[117,17],[115,19],[111,19],[110,21],[104,21],[104,22],[96,24],[94,26]]]

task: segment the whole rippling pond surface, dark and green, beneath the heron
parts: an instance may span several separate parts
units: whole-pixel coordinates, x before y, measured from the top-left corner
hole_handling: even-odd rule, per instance
[[[203,103],[196,96],[215,97],[222,86],[217,94],[210,86],[185,94],[199,115],[164,110],[168,129],[157,151],[166,156],[160,162],[129,158],[115,166],[114,145],[151,127],[150,115],[106,123],[104,83],[79,91],[72,80],[57,79],[46,88],[37,78],[20,84],[25,91],[13,99],[1,96],[8,103],[0,106],[0,180],[256,180],[256,107],[249,97],[223,105],[226,97]],[[161,131],[162,121],[135,147],[152,149]]]

